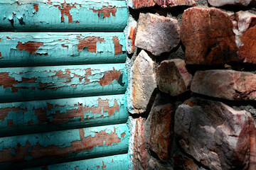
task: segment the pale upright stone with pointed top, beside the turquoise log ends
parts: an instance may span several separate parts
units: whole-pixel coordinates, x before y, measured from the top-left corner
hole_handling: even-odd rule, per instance
[[[131,69],[127,108],[130,113],[144,113],[156,89],[154,62],[144,50],[139,53]]]

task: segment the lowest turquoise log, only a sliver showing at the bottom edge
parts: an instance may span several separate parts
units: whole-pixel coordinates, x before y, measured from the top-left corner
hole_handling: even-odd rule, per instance
[[[63,164],[53,164],[48,166],[41,166],[26,170],[64,170],[64,169],[129,169],[128,155],[127,154],[117,154],[110,157],[100,157],[95,159],[85,159],[77,162],[67,162]]]

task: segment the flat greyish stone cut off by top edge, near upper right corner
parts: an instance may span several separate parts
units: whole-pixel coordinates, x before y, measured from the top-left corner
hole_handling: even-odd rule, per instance
[[[226,5],[237,5],[237,6],[248,6],[252,0],[208,0],[211,6],[226,6]]]

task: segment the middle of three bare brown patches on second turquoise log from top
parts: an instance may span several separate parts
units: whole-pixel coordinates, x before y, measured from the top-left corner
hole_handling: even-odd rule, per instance
[[[88,47],[89,52],[97,52],[97,42],[105,42],[104,38],[100,37],[85,37],[81,39],[80,36],[77,36],[79,43],[76,45],[78,46],[78,52],[82,51],[85,47]]]

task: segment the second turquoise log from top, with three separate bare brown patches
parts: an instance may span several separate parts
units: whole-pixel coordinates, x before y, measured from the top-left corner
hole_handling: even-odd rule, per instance
[[[124,33],[0,33],[0,67],[125,62]]]

